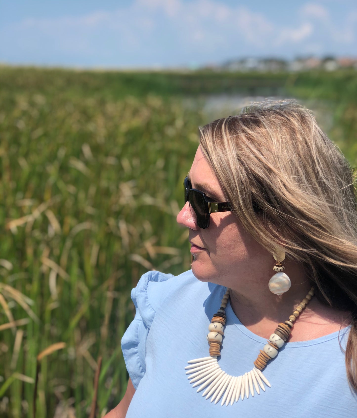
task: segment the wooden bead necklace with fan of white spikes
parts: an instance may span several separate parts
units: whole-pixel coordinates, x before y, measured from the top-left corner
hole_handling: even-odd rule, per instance
[[[190,383],[194,383],[192,387],[200,386],[197,393],[206,388],[202,396],[206,396],[206,399],[211,398],[211,402],[217,403],[223,396],[221,405],[224,403],[233,405],[234,401],[237,402],[240,397],[242,400],[245,397],[248,399],[249,393],[254,396],[254,391],[259,395],[259,387],[265,392],[264,383],[268,387],[271,387],[271,385],[263,375],[262,370],[269,360],[277,356],[279,348],[283,347],[289,338],[294,321],[309,303],[312,296],[314,296],[313,287],[293,314],[289,316],[289,320],[278,324],[274,333],[269,337],[268,343],[263,347],[263,350],[260,350],[251,371],[241,376],[230,376],[220,368],[217,360],[217,357],[220,356],[224,334],[225,307],[229,299],[229,289],[227,289],[221,301],[220,309],[213,315],[208,326],[207,340],[210,344],[210,356],[190,360],[187,362],[189,365],[185,367],[185,370],[188,369],[186,375],[190,375],[187,379],[190,379]]]

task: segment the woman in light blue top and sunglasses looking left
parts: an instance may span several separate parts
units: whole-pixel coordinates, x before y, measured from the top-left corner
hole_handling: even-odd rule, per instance
[[[132,290],[137,313],[122,338],[130,380],[107,416],[354,416],[347,160],[292,101],[253,104],[200,133],[177,215],[192,270],[148,272]]]

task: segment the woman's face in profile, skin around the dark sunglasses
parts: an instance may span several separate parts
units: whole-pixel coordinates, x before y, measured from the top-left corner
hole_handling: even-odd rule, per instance
[[[203,156],[200,146],[189,177],[193,189],[203,191],[216,202],[226,201],[218,179]],[[269,265],[269,271],[271,270],[271,254],[246,233],[233,212],[211,213],[210,226],[201,229],[197,227],[187,201],[177,215],[177,222],[190,229],[189,240],[194,256],[192,272],[197,279],[234,288],[239,277],[249,282],[254,280],[254,276],[262,277],[261,275],[267,274],[264,266]],[[250,273],[253,270],[252,275]],[[241,285],[244,287],[244,283]]]

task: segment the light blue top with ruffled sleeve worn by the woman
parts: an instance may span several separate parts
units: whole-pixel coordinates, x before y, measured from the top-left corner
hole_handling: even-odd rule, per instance
[[[136,389],[127,418],[357,416],[344,353],[349,327],[309,341],[288,342],[264,369],[271,383],[260,395],[232,406],[206,400],[192,388],[187,360],[207,357],[206,335],[226,288],[200,282],[189,270],[178,276],[145,273],[132,290],[136,315],[122,338],[122,351]],[[252,370],[266,339],[253,334],[226,308],[222,370],[239,376]],[[272,330],[273,332],[273,330]]]

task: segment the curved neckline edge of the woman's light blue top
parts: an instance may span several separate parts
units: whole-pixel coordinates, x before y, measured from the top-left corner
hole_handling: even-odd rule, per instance
[[[223,287],[223,294],[227,291],[226,287]],[[238,317],[235,315],[232,306],[230,305],[230,298],[228,299],[227,306],[225,308],[226,315],[230,318],[230,320],[233,322],[233,324],[238,328],[239,331],[241,331],[242,334],[246,335],[248,338],[253,339],[254,341],[257,341],[261,344],[266,344],[266,338],[263,338],[259,335],[254,334],[252,331],[250,331],[246,326],[244,326],[241,321],[239,321]],[[319,338],[307,340],[307,341],[294,341],[294,342],[287,342],[284,346],[285,349],[289,348],[296,348],[296,347],[309,347],[311,345],[321,344],[323,342],[339,338],[340,341],[344,337],[345,334],[349,332],[349,329],[351,328],[351,325],[340,329],[339,331],[332,332],[332,334],[327,334]]]

